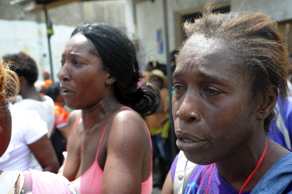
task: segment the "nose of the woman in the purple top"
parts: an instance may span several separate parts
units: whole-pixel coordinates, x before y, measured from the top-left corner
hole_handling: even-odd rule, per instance
[[[184,95],[184,98],[180,100],[181,104],[176,111],[176,116],[185,122],[199,122],[201,120],[201,103],[199,97],[192,94],[186,94]]]

